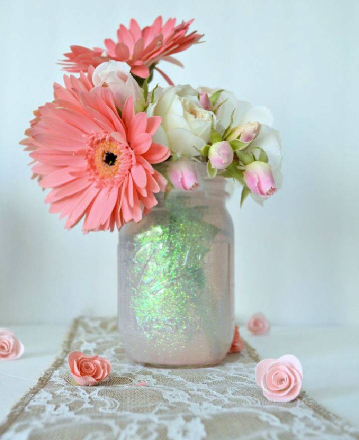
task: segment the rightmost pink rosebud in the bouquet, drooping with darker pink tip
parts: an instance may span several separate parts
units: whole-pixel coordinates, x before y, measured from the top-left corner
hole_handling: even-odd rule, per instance
[[[265,162],[254,161],[246,165],[243,178],[252,193],[267,197],[277,191],[271,167]]]

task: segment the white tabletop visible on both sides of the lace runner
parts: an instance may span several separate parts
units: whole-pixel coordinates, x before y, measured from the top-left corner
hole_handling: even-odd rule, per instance
[[[25,346],[22,358],[0,362],[0,420],[52,363],[67,332],[65,325],[10,327]],[[260,357],[296,355],[303,365],[303,389],[328,410],[359,426],[359,326],[273,327],[265,336],[241,334]]]

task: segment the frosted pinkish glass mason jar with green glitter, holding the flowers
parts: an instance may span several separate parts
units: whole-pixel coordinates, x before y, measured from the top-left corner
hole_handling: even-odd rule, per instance
[[[119,233],[119,330],[130,358],[204,366],[225,357],[234,332],[233,223],[225,179],[160,193],[158,205]]]

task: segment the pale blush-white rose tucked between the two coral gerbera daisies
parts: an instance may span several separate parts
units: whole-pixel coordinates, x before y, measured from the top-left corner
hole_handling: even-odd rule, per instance
[[[95,87],[101,87],[106,83],[114,94],[116,107],[120,110],[129,96],[134,98],[136,112],[143,110],[143,90],[131,75],[127,63],[110,60],[99,64],[93,72],[92,82]]]

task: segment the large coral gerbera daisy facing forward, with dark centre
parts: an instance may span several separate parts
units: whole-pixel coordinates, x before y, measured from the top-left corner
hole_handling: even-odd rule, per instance
[[[158,116],[135,114],[127,99],[120,117],[108,87],[93,87],[93,69],[80,78],[64,75],[54,84],[55,100],[40,107],[21,143],[35,165],[51,213],[66,217],[71,228],[83,217],[83,230],[113,230],[140,221],[156,204],[154,193],[166,180],[151,164],[170,150],[152,142]]]

